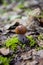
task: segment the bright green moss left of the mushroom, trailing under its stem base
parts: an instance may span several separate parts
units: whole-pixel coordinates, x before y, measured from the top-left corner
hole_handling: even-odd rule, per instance
[[[21,43],[17,37],[12,37],[8,40],[6,40],[5,42],[5,46],[16,51],[17,50],[17,46],[20,46],[22,49],[25,48],[25,44]]]

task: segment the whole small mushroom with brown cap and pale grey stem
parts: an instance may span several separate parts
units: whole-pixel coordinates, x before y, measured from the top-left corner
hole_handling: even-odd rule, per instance
[[[27,43],[28,40],[25,36],[25,33],[27,32],[27,29],[25,26],[23,25],[19,25],[15,28],[15,33],[18,34],[18,39],[22,42],[22,43]]]

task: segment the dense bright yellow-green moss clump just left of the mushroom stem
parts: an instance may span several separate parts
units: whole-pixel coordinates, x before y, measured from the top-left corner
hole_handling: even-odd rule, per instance
[[[12,37],[12,38],[6,40],[5,45],[6,45],[6,47],[11,48],[12,50],[16,50],[18,42],[19,42],[19,40],[17,37]]]

